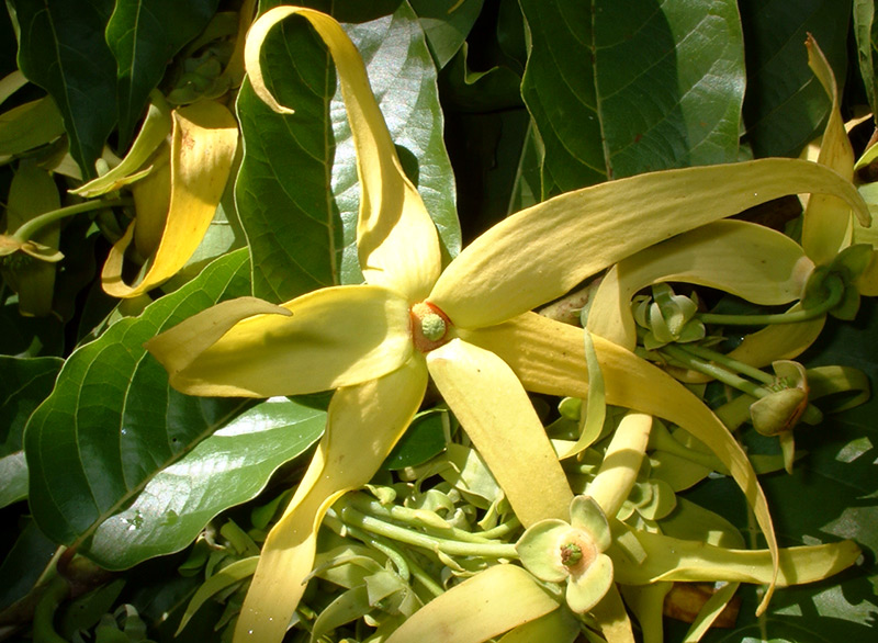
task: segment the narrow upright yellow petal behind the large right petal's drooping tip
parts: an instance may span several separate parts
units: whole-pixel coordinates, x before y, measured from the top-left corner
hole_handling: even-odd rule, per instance
[[[820,143],[817,162],[838,172],[846,180],[854,179],[854,150],[844,128],[838,110],[838,88],[823,52],[809,34],[804,42],[808,47],[808,65],[823,89],[832,99],[832,110]],[[860,222],[863,223],[863,222]],[[814,194],[808,200],[802,217],[802,247],[814,263],[832,261],[835,256],[851,245],[853,217],[851,206],[833,196]]]

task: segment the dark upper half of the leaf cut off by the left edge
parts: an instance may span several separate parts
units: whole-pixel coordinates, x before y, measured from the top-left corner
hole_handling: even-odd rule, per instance
[[[24,425],[52,387],[64,360],[0,356],[0,455],[21,449]]]

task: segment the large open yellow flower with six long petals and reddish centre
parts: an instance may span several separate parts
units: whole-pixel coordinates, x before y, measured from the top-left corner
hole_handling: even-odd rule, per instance
[[[374,475],[417,411],[428,377],[521,522],[566,520],[573,494],[525,386],[509,358],[479,345],[498,339],[500,347],[515,346],[510,357],[526,356],[529,381],[545,375],[552,391],[566,386],[582,396],[587,380],[578,371],[570,374],[579,363],[571,371],[565,362],[570,336],[561,352],[555,345],[547,350],[539,341],[532,348],[515,342],[516,332],[530,328],[528,311],[657,240],[786,193],[830,192],[858,206],[849,183],[804,161],[662,172],[572,192],[518,213],[442,271],[436,227],[402,170],[362,60],[335,20],[296,7],[262,15],[245,52],[254,89],[275,111],[290,112],[267,89],[259,53],[269,30],[292,14],[311,22],[338,69],[358,157],[357,247],[365,283],[325,287],[280,306],[252,297],[225,302],[147,345],[171,384],[192,395],[269,397],[335,390],[325,436],[264,543],[238,620],[236,640],[260,643],[283,638],[304,591],[326,510]],[[507,320],[511,326],[496,326]],[[567,328],[581,347],[582,330]],[[542,339],[551,341],[555,329],[550,330]],[[628,386],[629,375],[662,376],[608,342],[600,343],[601,356],[611,380],[608,403],[638,407],[640,393]],[[565,374],[555,376],[559,369]],[[570,377],[576,380],[573,386]],[[719,444],[720,458],[748,489],[759,524],[774,543],[765,499],[743,452],[706,407],[706,415],[690,413],[690,405],[700,403],[677,386],[663,391],[683,396],[678,407],[688,410],[676,414],[679,424],[696,432],[706,422],[709,430],[723,431],[707,442]],[[646,413],[661,414],[655,399],[644,404]]]

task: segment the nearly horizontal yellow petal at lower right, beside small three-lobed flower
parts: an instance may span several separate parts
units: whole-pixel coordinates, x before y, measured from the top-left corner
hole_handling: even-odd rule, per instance
[[[627,529],[622,527],[622,529]],[[619,583],[642,585],[658,580],[729,580],[772,583],[768,550],[730,550],[701,541],[628,530],[646,553],[635,563],[617,545],[608,552]],[[854,541],[785,548],[779,551],[777,585],[801,585],[832,576],[853,565],[860,555]]]

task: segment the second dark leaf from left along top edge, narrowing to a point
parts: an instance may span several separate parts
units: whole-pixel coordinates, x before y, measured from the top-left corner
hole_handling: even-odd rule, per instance
[[[161,80],[168,61],[201,33],[217,3],[218,0],[116,2],[106,25],[106,44],[117,64],[120,147],[127,146],[149,92]]]

